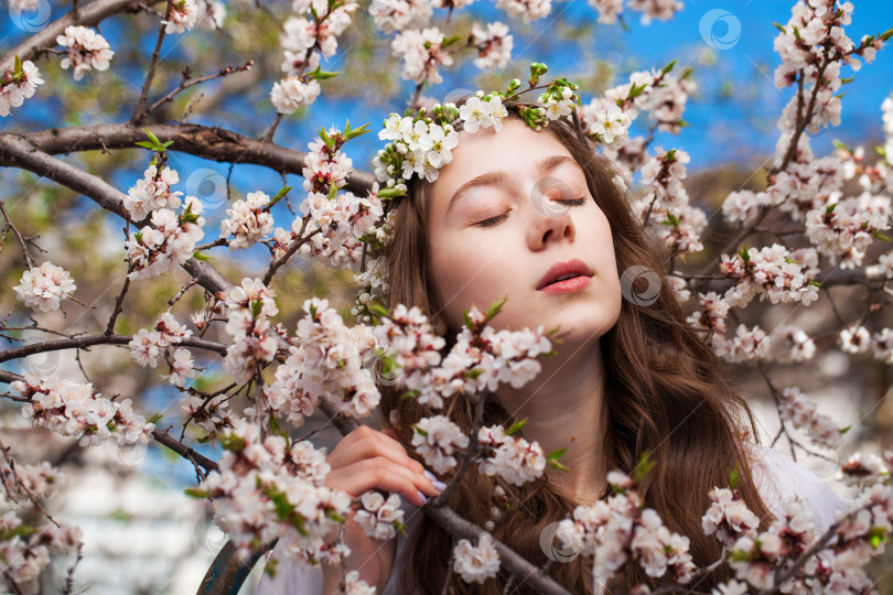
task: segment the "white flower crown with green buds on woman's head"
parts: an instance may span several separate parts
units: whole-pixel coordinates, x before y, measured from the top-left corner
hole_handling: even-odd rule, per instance
[[[518,112],[524,122],[531,130],[540,130],[552,120],[569,117],[579,134],[583,134],[574,104],[580,96],[574,93],[579,87],[567,78],[557,78],[551,83],[539,85],[539,77],[548,71],[541,63],[530,64],[529,87],[519,90],[521,82],[513,79],[506,90],[484,93],[477,90],[461,107],[453,102],[435,104],[428,110],[408,108],[404,116],[391,113],[378,132],[380,140],[389,141],[373,159],[375,177],[378,182],[373,192],[383,201],[385,206],[384,221],[374,228],[368,237],[364,238],[363,262],[361,273],[356,280],[365,288],[358,295],[354,315],[365,323],[370,323],[373,312],[368,304],[372,301],[389,304],[387,285],[387,263],[383,256],[372,258],[367,268],[366,248],[379,251],[392,239],[394,215],[391,203],[405,196],[407,182],[413,176],[423,177],[428,182],[438,178],[440,167],[453,159],[452,150],[459,144],[459,131],[474,133],[481,129],[493,127],[502,130],[503,120],[508,117],[508,110],[503,101],[512,101],[518,106]],[[516,100],[521,94],[544,89],[537,97],[536,104]],[[384,186],[380,186],[383,184]]]

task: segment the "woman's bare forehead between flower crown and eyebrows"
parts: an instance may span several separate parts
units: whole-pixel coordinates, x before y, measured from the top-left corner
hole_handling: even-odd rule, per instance
[[[498,132],[493,128],[473,133],[460,131],[459,144],[452,151],[453,159],[438,172],[431,197],[435,205],[445,208],[453,192],[469,180],[495,171],[504,171],[509,178],[534,173],[535,164],[547,155],[572,156],[551,132],[531,130],[516,118],[504,120]]]

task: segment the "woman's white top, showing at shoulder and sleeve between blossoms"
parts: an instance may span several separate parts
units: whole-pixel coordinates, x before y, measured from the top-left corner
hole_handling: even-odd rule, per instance
[[[753,451],[753,474],[760,495],[770,510],[776,516],[782,513],[782,501],[799,499],[807,509],[815,515],[816,536],[824,533],[833,522],[833,512],[842,505],[842,500],[815,473],[794,462],[789,456],[768,446],[746,443]],[[418,508],[404,500],[404,520],[409,533],[422,513]],[[399,595],[398,571],[400,561],[406,560],[404,550],[407,539],[397,533],[397,562],[390,573],[390,580],[381,595]],[[279,545],[273,549],[272,555],[281,553]],[[301,569],[279,564],[275,578],[267,574],[260,580],[255,595],[320,595],[322,593],[323,574],[320,566]]]

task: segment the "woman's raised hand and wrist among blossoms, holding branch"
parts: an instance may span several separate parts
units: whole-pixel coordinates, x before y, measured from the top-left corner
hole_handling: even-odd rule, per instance
[[[365,425],[344,436],[325,458],[332,467],[325,477],[326,487],[346,491],[353,498],[370,489],[394,491],[415,506],[424,504],[419,493],[428,497],[439,494],[426,477],[424,467],[410,458],[396,437],[394,430],[378,432]],[[351,554],[342,565],[322,565],[324,594],[337,593],[344,574],[352,570],[375,586],[376,593],[381,593],[390,578],[397,538],[383,541],[368,537],[354,521],[354,515],[351,511],[344,523],[344,543]]]

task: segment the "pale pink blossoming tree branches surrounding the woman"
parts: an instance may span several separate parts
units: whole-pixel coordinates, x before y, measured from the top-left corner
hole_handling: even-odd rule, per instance
[[[39,1],[12,0],[11,8],[26,12]],[[585,89],[564,78],[548,80],[548,68],[534,63],[526,82],[513,79],[505,90],[478,94],[461,109],[437,104],[422,91],[442,83],[444,67],[469,55],[481,69],[504,68],[510,61],[513,36],[505,23],[474,22],[469,30],[455,30],[459,21],[454,14],[471,3],[383,0],[364,7],[353,0],[294,0],[288,10],[269,7],[281,23],[278,51],[284,76],[265,82],[271,109],[265,105],[258,117],[268,117],[269,123],[256,137],[190,123],[186,115],[181,120],[160,119],[177,96],[197,93],[212,80],[248,76],[263,57],[245,56],[239,64],[223,65],[197,77],[186,69],[173,88],[155,84],[165,40],[195,34],[196,29],[224,26],[233,7],[218,0],[94,0],[85,4],[75,0],[63,17],[6,53],[0,60],[0,116],[15,119],[28,113],[35,97],[51,93],[42,74],[47,64],[58,61],[58,67],[71,69],[80,85],[88,84],[84,79],[94,76],[94,71],[116,66],[119,58],[100,33],[101,23],[140,19],[158,29],[142,85],[127,106],[132,111],[121,121],[0,132],[0,165],[45,177],[118,216],[126,250],[121,271],[126,274],[103,304],[110,312],[103,325],[86,334],[44,326],[43,316],[78,302],[77,280],[54,264],[54,255],[41,247],[40,238],[17,223],[13,198],[0,201],[0,247],[6,258],[20,259],[23,267],[12,283],[15,304],[0,326],[0,336],[8,344],[0,361],[9,363],[0,370],[0,381],[9,387],[3,398],[20,407],[34,428],[69,436],[80,446],[154,441],[190,461],[196,485],[189,494],[214,502],[216,521],[243,559],[279,540],[288,544],[290,563],[337,564],[349,553],[341,538],[348,512],[356,511],[356,522],[370,537],[389,539],[404,528],[400,497],[368,491],[352,498],[326,487],[330,466],[325,451],[308,439],[292,436],[318,410],[343,434],[356,430],[358,421],[379,403],[377,377],[368,365],[377,361],[399,370],[396,382],[407,398],[432,411],[444,409],[459,393],[471,396],[475,404],[477,421],[470,434],[439,413],[413,426],[412,444],[426,467],[446,480],[443,494],[421,510],[454,537],[452,571],[475,583],[503,569],[541,593],[567,593],[547,567],[534,566],[486,528],[466,521],[461,511],[444,504],[452,486],[466,473],[496,475],[519,486],[540,477],[547,466],[563,468],[561,451],[545,453],[536,442],[521,437],[523,423],[504,428],[485,426],[481,421],[486,390],[531,381],[540,370],[538,358],[553,355],[560,345],[553,345],[551,332],[542,327],[495,332],[488,323],[499,314],[502,303],[497,302],[486,312],[466,310],[465,326],[444,355],[444,338],[433,332],[418,307],[381,305],[380,298],[387,292],[386,263],[372,256],[390,239],[388,202],[406,192],[405,185],[395,183],[395,175],[402,169],[406,177],[415,173],[435,180],[456,145],[456,131],[450,122],[461,121],[469,131],[498,128],[503,102],[527,94],[535,101],[535,107],[524,111],[529,126],[572,119],[578,132],[616,164],[615,183],[623,188],[636,185],[637,192],[631,192],[634,209],[643,225],[665,242],[669,255],[673,284],[660,291],[673,291],[688,305],[689,321],[704,332],[704,340],[722,358],[756,363],[781,420],[773,444],[784,436],[801,452],[816,446],[835,452],[847,429],[818,411],[798,387],[776,386],[768,368],[771,363],[813,359],[813,338],[790,325],[766,333],[760,326],[733,324],[732,336],[727,326],[736,321],[735,311],[755,298],[808,306],[822,300],[822,293],[833,285],[863,285],[870,292],[868,302],[885,302],[893,257],[882,256],[878,262],[865,262],[864,257],[875,242],[890,241],[884,231],[891,221],[893,99],[882,106],[885,144],[878,148],[876,162],[869,161],[865,148],[842,144],[832,154],[816,155],[809,139],[840,123],[841,87],[851,80],[843,76],[844,69],[854,72],[862,62],[870,64],[891,32],[850,39],[847,26],[853,6],[835,0],[796,2],[789,21],[777,24],[775,50],[781,63],[775,83],[789,90],[790,99],[778,120],[777,152],[767,186],[727,197],[722,216],[736,225],[738,234],[725,239],[702,270],[691,272],[680,270],[679,264],[703,250],[701,232],[708,217],[686,192],[689,155],[680,148],[659,149],[655,140],[687,126],[682,116],[687,97],[696,88],[692,72],[680,73],[675,64],[637,72],[628,82],[584,100]],[[590,3],[600,22],[621,21],[624,26],[628,26],[626,11],[642,13],[647,23],[669,19],[682,8],[675,0]],[[236,8],[247,15],[261,12],[259,6]],[[526,23],[541,22],[552,11],[549,0],[497,0],[496,8]],[[442,22],[435,22],[433,9],[446,11]],[[391,144],[378,152],[370,172],[354,169],[344,151],[346,143],[369,131],[366,126],[351,128],[348,122],[343,130],[322,128],[308,142],[306,152],[275,140],[284,118],[324,97],[326,80],[338,73],[323,71],[321,60],[337,54],[340,35],[364,11],[381,35],[391,37],[389,50],[401,63],[400,76],[415,83],[406,112],[392,113],[378,133]],[[635,120],[644,122],[647,134],[630,136]],[[142,177],[127,188],[63,159],[72,152],[115,149],[139,152],[143,160]],[[205,227],[203,202],[174,190],[189,172],[171,166],[172,152],[262,165],[280,173],[283,185],[234,188],[244,198],[230,201],[217,234]],[[288,174],[303,177],[300,192],[284,183]],[[844,192],[847,182],[858,184],[860,193]],[[226,185],[229,197],[228,177]],[[300,216],[291,212],[291,201],[298,195]],[[288,205],[290,216],[281,204]],[[275,219],[276,205],[284,219]],[[764,225],[768,220],[772,227]],[[781,225],[785,228],[777,227]],[[774,234],[778,241],[747,247],[747,241],[765,234]],[[805,247],[788,247],[795,237]],[[255,245],[269,251],[262,274],[230,281],[212,264],[218,252]],[[277,322],[281,302],[277,303],[271,285],[295,256],[353,272],[361,288],[352,311],[354,321],[345,321],[327,300],[312,298],[303,300],[304,315],[294,328]],[[119,332],[119,318],[140,284],[173,275],[177,269],[190,280],[168,296],[170,307],[149,327]],[[179,307],[190,292],[202,292],[203,309],[189,312]],[[633,292],[631,299],[646,298]],[[893,331],[869,328],[864,318],[856,324],[842,318],[835,322],[839,324],[833,333],[846,351],[893,364]],[[220,327],[225,340],[208,338],[214,336],[212,329]],[[43,338],[24,342],[22,331]],[[17,361],[60,350],[75,350],[80,361],[82,354],[89,357],[90,348],[100,345],[129,350],[132,366],[158,369],[175,388],[182,413],[179,436],[172,432],[173,424],[162,429],[158,414],[141,410],[138,394],[121,400],[104,396],[101,380],[94,383],[13,371]],[[198,356],[222,359],[226,381],[203,388]],[[201,442],[224,450],[218,461],[196,452],[196,444],[186,437],[189,428],[200,432]],[[811,444],[795,440],[792,429],[805,432]],[[0,442],[0,450],[7,498],[7,511],[0,517],[0,581],[14,593],[35,593],[50,554],[73,552],[80,534],[49,511],[49,499],[61,485],[61,470],[49,462],[17,464],[14,444]],[[612,470],[607,477],[611,496],[578,507],[561,523],[558,536],[566,547],[592,558],[593,575],[612,591],[643,592],[643,585],[618,582],[630,565],[641,565],[648,576],[661,578],[659,593],[689,593],[687,585],[698,576],[728,564],[735,577],[722,586],[725,594],[789,588],[862,593],[872,586],[863,567],[883,553],[893,522],[889,478],[893,453],[857,453],[839,463],[841,477],[863,489],[821,533],[800,502],[786,504],[785,515],[766,531],[757,531],[758,519],[740,498],[736,476],[731,473],[728,485],[710,493],[711,505],[703,515],[704,532],[723,545],[723,556],[710,566],[696,567],[688,537],[670,532],[655,510],[644,505],[637,489],[647,473],[647,459],[635,473]],[[42,520],[30,520],[34,518]],[[65,592],[72,591],[71,574],[61,585]],[[352,594],[376,591],[356,571],[344,573],[341,589]]]

